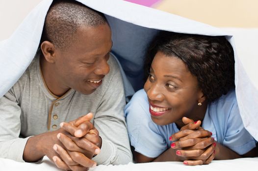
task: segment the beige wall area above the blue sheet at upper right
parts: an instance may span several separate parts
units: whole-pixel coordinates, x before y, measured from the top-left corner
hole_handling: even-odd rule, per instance
[[[162,0],[156,8],[217,27],[258,27],[258,0]]]

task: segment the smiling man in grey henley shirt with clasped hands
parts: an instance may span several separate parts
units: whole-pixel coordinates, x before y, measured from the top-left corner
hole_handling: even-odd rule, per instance
[[[55,0],[34,60],[0,98],[0,157],[37,162],[47,155],[64,170],[129,163],[125,95],[111,47],[102,14]]]

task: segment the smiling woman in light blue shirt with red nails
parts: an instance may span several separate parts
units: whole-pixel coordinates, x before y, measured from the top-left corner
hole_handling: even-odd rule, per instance
[[[233,49],[224,37],[161,32],[145,69],[144,90],[125,108],[136,162],[202,165],[254,156],[255,140],[235,97]]]

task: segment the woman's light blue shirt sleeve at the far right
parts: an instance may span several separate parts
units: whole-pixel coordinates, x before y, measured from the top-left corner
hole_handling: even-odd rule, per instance
[[[256,147],[255,139],[244,128],[236,100],[232,100],[232,108],[228,115],[227,131],[223,145],[242,155]]]

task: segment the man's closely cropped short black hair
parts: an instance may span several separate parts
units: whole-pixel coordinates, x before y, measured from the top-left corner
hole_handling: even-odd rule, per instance
[[[76,0],[53,0],[45,19],[40,44],[49,41],[59,48],[67,48],[76,40],[80,26],[96,27],[107,23],[104,15]]]

